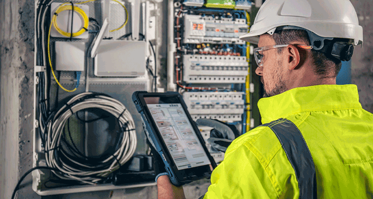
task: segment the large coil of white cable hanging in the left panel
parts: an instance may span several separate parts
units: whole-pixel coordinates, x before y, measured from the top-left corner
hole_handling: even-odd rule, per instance
[[[120,147],[106,159],[87,161],[89,158],[82,156],[77,151],[69,149],[75,155],[72,156],[61,147],[61,141],[65,140],[65,144],[67,144],[66,139],[62,136],[69,117],[77,111],[87,108],[99,108],[109,112],[118,119],[120,129],[122,129],[123,136]],[[52,119],[48,119],[45,126],[45,131],[47,131],[45,156],[47,165],[60,171],[52,172],[61,179],[96,184],[100,180],[105,180],[111,172],[125,164],[136,150],[137,137],[131,113],[122,103],[105,94],[90,92],[78,94],[52,115]]]

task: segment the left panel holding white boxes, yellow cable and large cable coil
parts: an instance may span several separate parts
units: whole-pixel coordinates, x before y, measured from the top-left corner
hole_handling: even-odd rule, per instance
[[[156,88],[161,9],[151,1],[35,0],[32,156],[33,167],[50,168],[32,172],[36,193],[156,184],[141,115],[128,99]]]

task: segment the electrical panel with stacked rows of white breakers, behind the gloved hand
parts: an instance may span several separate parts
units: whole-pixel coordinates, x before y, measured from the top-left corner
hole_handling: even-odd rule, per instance
[[[250,47],[239,36],[248,32],[251,6],[250,0],[174,0],[169,20],[168,44],[175,49],[168,53],[168,76],[175,74],[191,117],[238,125],[241,134],[250,121]],[[212,128],[199,128],[207,140]],[[217,163],[224,159],[206,146]]]

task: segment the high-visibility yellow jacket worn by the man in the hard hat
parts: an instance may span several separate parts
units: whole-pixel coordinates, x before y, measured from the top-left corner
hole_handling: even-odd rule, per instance
[[[286,118],[300,130],[316,168],[318,198],[373,198],[373,114],[356,85],[299,87],[262,98],[262,123]],[[204,198],[298,198],[295,171],[268,126],[235,139]]]

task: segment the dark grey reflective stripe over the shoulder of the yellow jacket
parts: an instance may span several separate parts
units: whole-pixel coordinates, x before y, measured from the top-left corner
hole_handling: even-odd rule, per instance
[[[314,160],[296,125],[288,119],[280,118],[263,124],[276,134],[287,158],[293,166],[298,180],[299,198],[317,198],[316,172]]]

